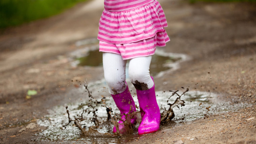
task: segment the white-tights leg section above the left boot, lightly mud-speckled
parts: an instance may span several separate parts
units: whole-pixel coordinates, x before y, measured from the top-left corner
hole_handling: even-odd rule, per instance
[[[110,94],[119,94],[125,90],[126,62],[121,55],[103,52],[104,77]]]

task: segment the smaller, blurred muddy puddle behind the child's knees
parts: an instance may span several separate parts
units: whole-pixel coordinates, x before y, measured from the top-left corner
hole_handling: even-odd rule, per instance
[[[98,50],[97,39],[86,39],[76,42],[76,46],[83,46],[84,48],[71,52],[70,57],[73,59],[71,65],[77,66],[102,66],[102,52]],[[150,74],[152,76],[160,76],[171,69],[179,68],[179,63],[188,60],[189,57],[180,53],[168,53],[157,49],[155,55],[152,56],[150,65]],[[126,64],[126,71],[128,71],[129,60]],[[128,73],[126,78],[129,78]]]

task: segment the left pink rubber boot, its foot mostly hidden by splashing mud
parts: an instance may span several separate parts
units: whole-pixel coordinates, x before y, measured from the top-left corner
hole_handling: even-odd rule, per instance
[[[132,99],[131,93],[129,91],[129,88],[126,84],[126,89],[124,92],[120,93],[120,94],[116,94],[116,95],[112,95],[118,109],[120,110],[121,113],[121,119],[125,121],[125,114],[127,114],[130,111],[130,105],[132,106],[131,112],[136,111],[135,108],[135,103]],[[130,104],[129,104],[130,103]],[[119,120],[118,123],[123,123],[122,120]],[[136,121],[136,118],[132,118],[131,119],[131,123],[134,124]],[[119,131],[120,133],[124,133],[124,124],[119,124]],[[113,128],[113,133],[116,133],[116,127],[114,126]]]

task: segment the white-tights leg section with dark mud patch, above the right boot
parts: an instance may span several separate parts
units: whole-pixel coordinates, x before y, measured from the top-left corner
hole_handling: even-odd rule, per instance
[[[154,85],[149,74],[151,58],[152,56],[148,56],[130,60],[129,77],[134,87],[140,91],[150,89]]]

